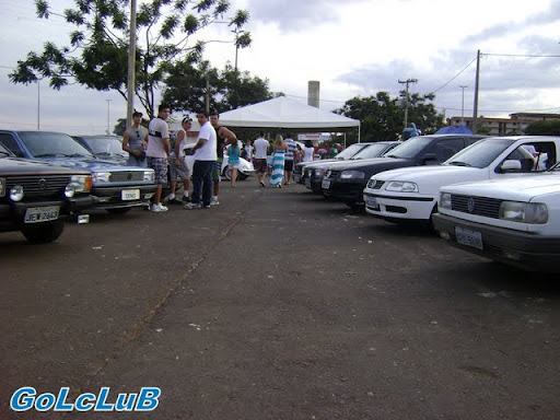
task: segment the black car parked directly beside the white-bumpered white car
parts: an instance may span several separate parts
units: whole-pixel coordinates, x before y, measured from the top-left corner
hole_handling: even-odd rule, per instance
[[[397,167],[438,165],[483,137],[475,135],[418,136],[405,141],[383,158],[334,163],[323,179],[323,194],[329,199],[361,209],[364,207],[363,189],[372,175]]]

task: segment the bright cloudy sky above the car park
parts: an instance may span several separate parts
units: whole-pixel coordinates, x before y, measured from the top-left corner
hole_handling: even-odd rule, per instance
[[[138,0],[140,3],[141,0]],[[268,79],[273,92],[306,102],[307,82],[320,82],[320,107],[332,110],[378,91],[396,96],[434,92],[446,117],[472,115],[477,50],[479,115],[560,113],[560,0],[231,0],[250,13],[250,48],[238,67]],[[51,0],[52,11],[71,0]],[[8,74],[45,40],[68,45],[73,30],[59,18],[39,20],[33,0],[0,0],[0,126],[102,133],[126,114],[116,93],[80,86],[52,91],[47,81],[13,85]],[[201,39],[229,40],[226,25]],[[214,67],[235,59],[228,43],[207,46]]]

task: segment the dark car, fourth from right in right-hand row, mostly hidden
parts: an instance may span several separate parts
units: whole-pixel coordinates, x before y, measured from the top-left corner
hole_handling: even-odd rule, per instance
[[[366,147],[346,161],[353,162],[362,159],[380,158],[400,143],[400,141],[376,141],[374,143],[362,143],[366,144]],[[335,162],[337,161],[317,161],[306,165],[303,170],[304,185],[315,194],[323,194],[323,178],[325,177],[329,166]]]

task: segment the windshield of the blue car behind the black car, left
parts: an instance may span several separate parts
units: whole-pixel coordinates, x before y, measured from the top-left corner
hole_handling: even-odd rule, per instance
[[[93,154],[68,135],[46,131],[20,131],[34,158],[93,158]]]

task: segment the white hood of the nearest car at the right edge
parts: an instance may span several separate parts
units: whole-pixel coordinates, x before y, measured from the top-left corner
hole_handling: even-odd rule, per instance
[[[560,174],[542,173],[509,179],[450,185],[443,187],[442,191],[502,200],[530,201],[537,197],[560,194]]]

